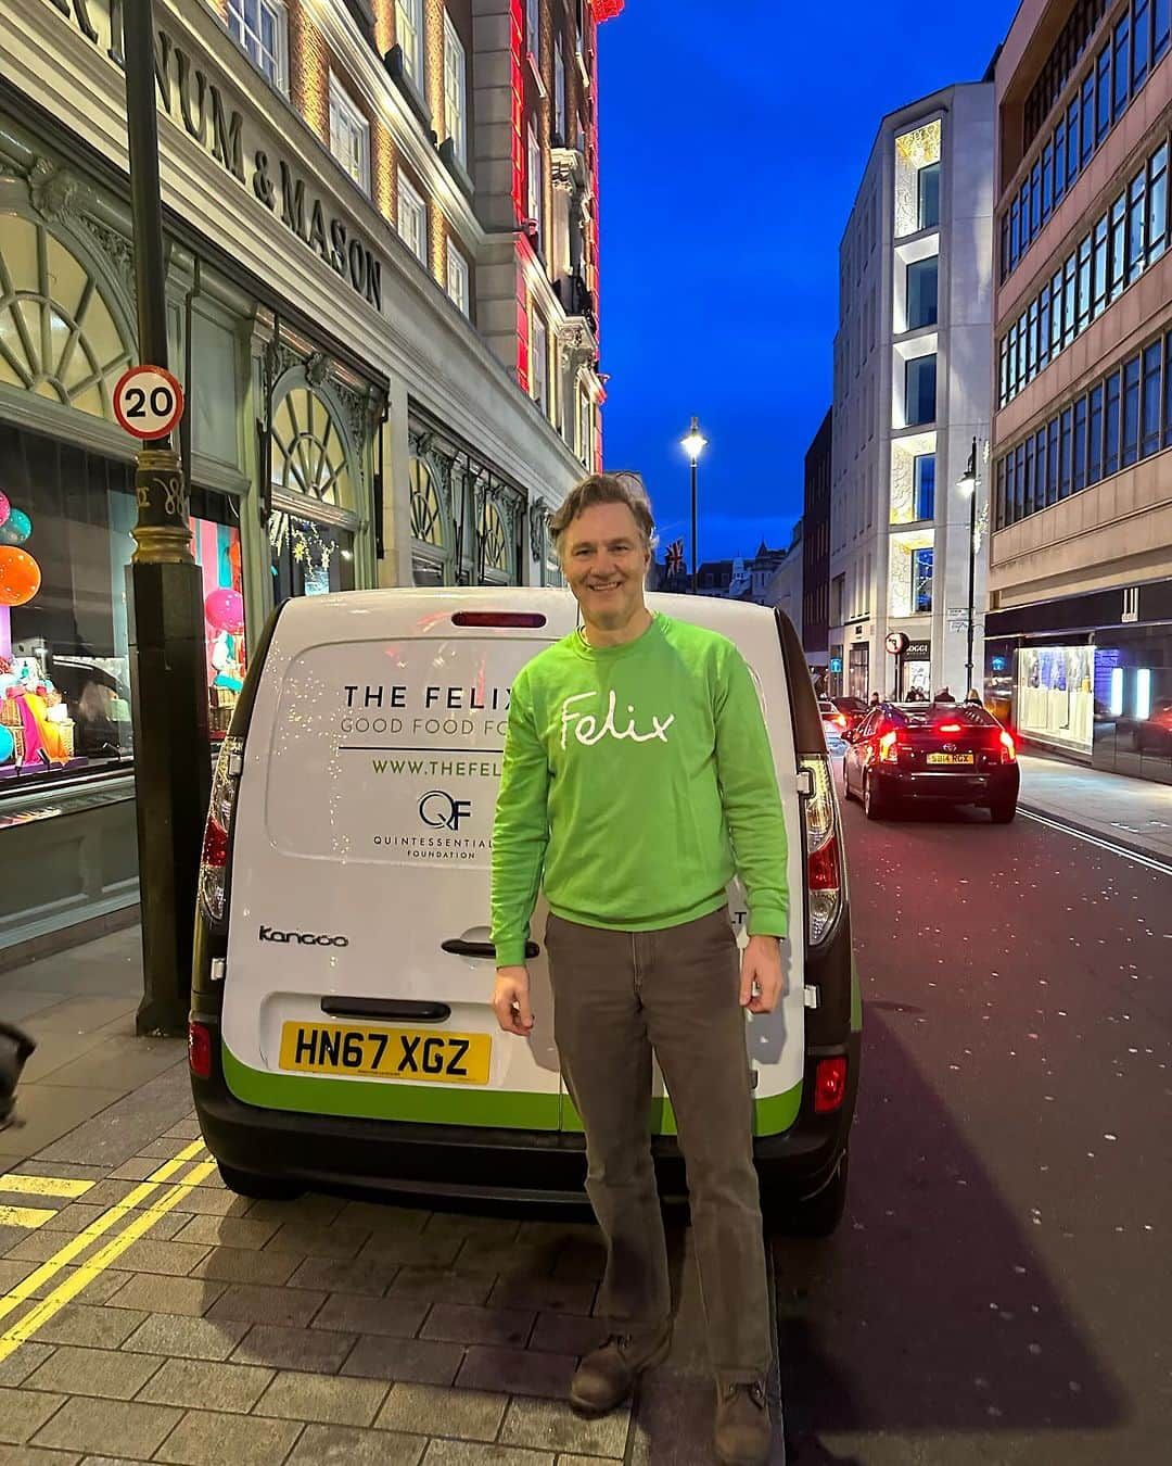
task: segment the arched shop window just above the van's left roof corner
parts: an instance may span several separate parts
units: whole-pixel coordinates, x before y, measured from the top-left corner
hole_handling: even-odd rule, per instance
[[[277,600],[352,591],[355,485],[341,428],[306,386],[290,386],[272,413],[268,541]]]

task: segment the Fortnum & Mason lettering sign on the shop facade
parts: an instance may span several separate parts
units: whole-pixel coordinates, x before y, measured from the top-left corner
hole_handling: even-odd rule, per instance
[[[117,0],[53,0],[81,34],[122,65],[122,6]],[[97,12],[101,26],[95,23]],[[103,37],[110,37],[104,47]],[[155,85],[163,110],[226,173],[271,210],[302,243],[346,280],[369,305],[382,311],[382,261],[353,233],[347,220],[331,214],[306,180],[270,148],[258,147],[245,114],[230,95],[161,26],[155,29]]]

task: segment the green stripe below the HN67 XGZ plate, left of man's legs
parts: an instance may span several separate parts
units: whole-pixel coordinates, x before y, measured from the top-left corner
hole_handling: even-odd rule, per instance
[[[355,1120],[415,1120],[423,1124],[479,1124],[507,1130],[557,1130],[561,1097],[464,1085],[394,1085],[251,1069],[221,1045],[224,1079],[243,1104],[299,1114],[340,1114]]]

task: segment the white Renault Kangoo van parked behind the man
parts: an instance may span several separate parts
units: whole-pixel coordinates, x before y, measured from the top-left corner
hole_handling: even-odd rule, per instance
[[[841,1215],[858,1082],[838,805],[788,619],[649,597],[730,636],[765,708],[790,836],[790,984],[752,1017],[763,1199],[793,1230]],[[580,1199],[582,1124],[558,1073],[538,909],[536,1025],[489,1006],[492,815],[510,685],[570,633],[567,591],[394,589],[286,601],[251,658],[215,773],[196,918],[190,1067],[242,1195]],[[734,921],[744,902],[730,890]],[[683,1192],[670,1098],[652,1114]]]

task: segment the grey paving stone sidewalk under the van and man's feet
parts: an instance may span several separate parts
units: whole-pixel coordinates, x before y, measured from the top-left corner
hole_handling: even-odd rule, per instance
[[[0,1226],[0,1340],[207,1161],[198,1146],[167,1185],[133,1201],[199,1141],[182,1042],[132,1036],[136,941],[116,934],[97,950],[0,973],[0,1016],[41,1042],[21,1086],[28,1124],[0,1132],[0,1173],[92,1183],[76,1199],[0,1185],[0,1205],[54,1212],[35,1227]],[[672,1231],[672,1358],[645,1381],[634,1413],[585,1421],[564,1400],[577,1359],[602,1334],[602,1250],[589,1220],[321,1195],[248,1201],[204,1170],[0,1358],[0,1466],[713,1459],[715,1393],[683,1227]],[[29,1287],[111,1207],[126,1209],[108,1233]],[[6,1309],[22,1284],[28,1297]]]

